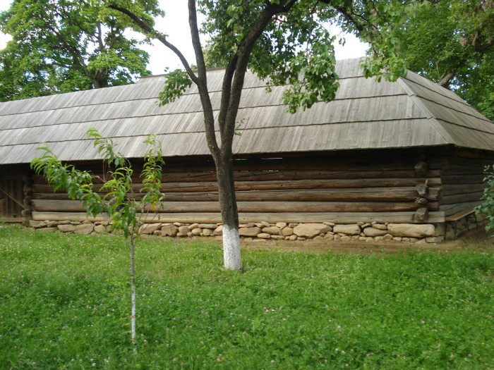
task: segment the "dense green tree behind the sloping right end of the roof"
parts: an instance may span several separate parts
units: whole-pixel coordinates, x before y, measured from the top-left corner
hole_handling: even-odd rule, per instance
[[[406,67],[494,120],[494,1],[422,0],[392,27]]]

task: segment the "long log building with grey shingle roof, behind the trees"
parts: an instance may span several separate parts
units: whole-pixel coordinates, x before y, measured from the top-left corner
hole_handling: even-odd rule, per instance
[[[295,114],[281,102],[285,87],[267,92],[265,82],[246,76],[234,138],[242,226],[355,224],[360,238],[367,238],[363,230],[373,224],[433,225],[428,237],[442,240],[448,222],[456,227],[472,216],[483,192],[483,168],[494,163],[494,123],[416,73],[396,82],[364,78],[359,61],[337,62],[340,86],[333,101]],[[216,110],[223,73],[208,72]],[[159,223],[221,223],[198,91],[192,86],[159,106],[165,78],[1,103],[1,220],[87,220],[79,202],[53,192],[29,164],[40,142],[47,142],[62,161],[102,173],[86,135],[96,128],[131,159],[135,173],[146,152],[143,141],[157,135],[167,163]]]

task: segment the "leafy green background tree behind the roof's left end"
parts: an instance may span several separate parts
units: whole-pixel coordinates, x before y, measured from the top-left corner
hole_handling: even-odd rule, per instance
[[[137,1],[152,24],[157,0]],[[0,51],[0,100],[125,85],[147,75],[147,53],[118,12],[92,0],[14,0],[0,13],[12,40]]]

